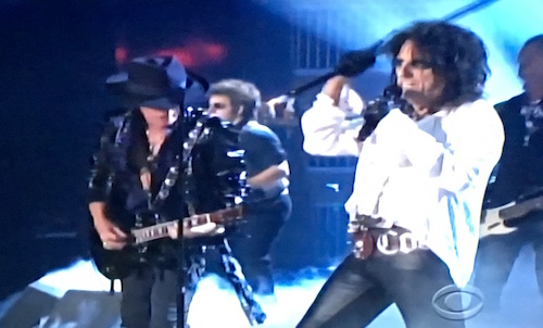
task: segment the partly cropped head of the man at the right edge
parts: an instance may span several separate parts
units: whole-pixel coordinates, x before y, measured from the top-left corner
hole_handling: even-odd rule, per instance
[[[543,98],[543,50],[530,45],[518,55],[518,76],[531,100]]]

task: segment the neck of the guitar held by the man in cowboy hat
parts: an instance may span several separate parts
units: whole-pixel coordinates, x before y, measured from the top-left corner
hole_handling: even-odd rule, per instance
[[[231,209],[219,210],[212,213],[198,214],[182,219],[182,228],[190,229],[195,226],[205,225],[209,223],[220,224],[228,222],[230,219],[237,219],[242,217],[243,207],[235,206]],[[132,244],[140,244],[143,242],[166,238],[168,237],[168,230],[174,228],[179,220],[171,220],[161,223],[157,225],[149,226],[146,228],[132,229],[131,235],[134,236]]]

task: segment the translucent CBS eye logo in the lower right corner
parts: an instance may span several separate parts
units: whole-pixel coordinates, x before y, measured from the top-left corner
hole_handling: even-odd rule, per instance
[[[478,314],[484,301],[482,292],[473,287],[458,288],[449,285],[438,290],[432,298],[435,312],[450,320],[464,320]]]

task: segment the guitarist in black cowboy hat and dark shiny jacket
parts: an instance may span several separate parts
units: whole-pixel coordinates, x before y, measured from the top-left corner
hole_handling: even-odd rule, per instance
[[[100,257],[96,255],[94,262],[106,277],[122,280],[123,327],[175,327],[176,313],[182,313],[186,325],[186,314],[203,270],[202,243],[209,241],[206,236],[215,235],[216,226],[184,229],[185,238],[202,237],[184,243],[184,256],[178,256],[178,243],[171,238],[132,248],[129,243],[134,242],[134,236],[127,231],[194,214],[189,212],[190,192],[186,185],[190,179],[182,175],[185,161],[180,160],[190,154],[190,144],[197,143],[194,137],[199,134],[189,133],[190,128],[195,131],[193,126],[186,124],[186,117],[178,117],[185,112],[184,101],[194,102],[200,96],[205,100],[205,86],[188,76],[172,56],[135,59],[127,64],[126,72],[109,77],[106,84],[129,110],[111,119],[93,157],[88,187],[89,210],[98,235],[93,255],[100,253],[96,250],[105,250],[103,253],[113,255],[102,260],[117,258],[115,265],[111,261],[101,265],[108,261],[98,261]],[[194,169],[202,171],[206,179],[217,176],[203,168]],[[214,207],[207,206],[206,211],[219,210],[216,207],[220,201],[215,201]],[[169,226],[168,235],[176,238],[177,227]],[[184,260],[186,274],[182,275],[184,312],[176,311],[178,257]],[[236,283],[241,286],[243,281]],[[251,297],[250,290],[247,294]],[[252,305],[252,299],[245,303]]]

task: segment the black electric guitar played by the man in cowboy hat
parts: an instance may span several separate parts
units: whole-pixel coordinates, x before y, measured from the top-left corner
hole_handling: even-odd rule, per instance
[[[197,228],[209,223],[225,225],[241,219],[245,213],[243,205],[219,210],[211,213],[198,214],[182,219],[184,230]],[[179,220],[171,220],[150,225],[142,228],[131,228],[129,243],[122,250],[106,250],[96,229],[92,229],[90,255],[98,270],[111,280],[127,277],[132,268],[146,256],[155,255],[151,241],[169,237],[168,229],[175,227]]]

